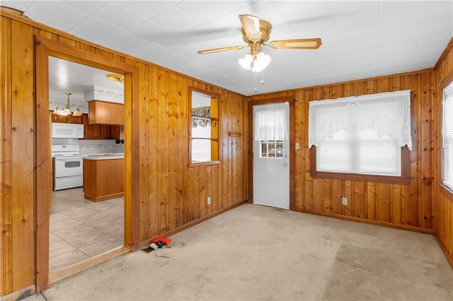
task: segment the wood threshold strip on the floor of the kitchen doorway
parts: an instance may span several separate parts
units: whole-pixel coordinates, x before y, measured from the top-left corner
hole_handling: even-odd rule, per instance
[[[113,259],[117,256],[127,254],[127,253],[130,253],[130,249],[127,249],[127,247],[120,247],[120,248],[114,249],[111,252],[101,254],[97,257],[94,257],[93,259],[88,259],[87,261],[83,261],[80,264],[76,264],[75,266],[71,266],[70,268],[67,268],[64,271],[52,273],[49,276],[49,288],[51,288],[53,285],[55,285],[55,283],[57,283],[58,281],[62,281],[63,279],[73,276],[76,273],[79,273],[81,271],[84,271],[87,268],[91,268],[91,266],[96,266],[96,264],[101,264],[103,261],[106,261],[108,259]]]

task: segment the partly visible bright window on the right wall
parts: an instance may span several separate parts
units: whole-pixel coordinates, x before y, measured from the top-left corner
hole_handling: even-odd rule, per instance
[[[453,189],[453,81],[443,90],[442,182]]]

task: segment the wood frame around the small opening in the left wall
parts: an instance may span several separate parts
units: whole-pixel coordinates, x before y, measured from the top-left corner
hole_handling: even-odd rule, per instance
[[[204,94],[207,96],[210,96],[211,98],[211,160],[210,161],[203,161],[203,162],[193,162],[192,161],[192,141],[193,141],[193,136],[192,136],[192,94],[193,92],[197,92],[200,94]],[[218,165],[220,164],[220,159],[219,159],[219,134],[220,134],[220,122],[219,122],[219,95],[207,92],[205,90],[200,90],[197,88],[189,87],[189,101],[188,101],[188,107],[189,107],[189,135],[188,135],[188,153],[189,153],[189,158],[188,158],[188,166],[189,167],[199,167],[199,166],[207,166],[207,165]],[[212,160],[214,158],[214,160]]]

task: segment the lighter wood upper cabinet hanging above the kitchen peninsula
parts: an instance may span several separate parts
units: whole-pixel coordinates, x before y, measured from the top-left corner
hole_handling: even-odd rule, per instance
[[[91,100],[88,112],[90,124],[125,124],[124,105],[121,103]]]

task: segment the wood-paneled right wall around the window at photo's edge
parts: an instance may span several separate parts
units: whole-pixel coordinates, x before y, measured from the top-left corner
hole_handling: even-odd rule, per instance
[[[453,268],[453,194],[440,184],[442,182],[442,85],[453,81],[453,38],[445,48],[439,61],[435,66],[435,97],[432,102],[432,112],[434,115],[434,128],[432,136],[434,138],[434,152],[432,167],[434,172],[434,191],[432,211],[434,218],[434,230],[437,241],[449,259],[449,264]]]

